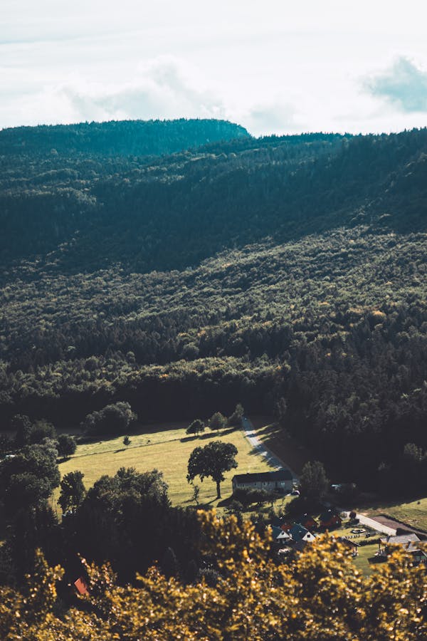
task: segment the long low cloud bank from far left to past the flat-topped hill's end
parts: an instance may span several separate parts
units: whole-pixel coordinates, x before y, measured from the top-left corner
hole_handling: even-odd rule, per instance
[[[295,108],[283,96],[274,95],[269,100],[254,94],[236,99],[236,95],[229,95],[221,85],[212,83],[204,68],[181,58],[158,56],[140,63],[134,61],[134,68],[133,77],[121,82],[117,74],[112,74],[111,79],[104,75],[90,81],[73,73],[60,83],[31,85],[25,95],[14,97],[15,118],[26,125],[221,118],[243,125],[253,135],[301,129],[295,123]],[[0,122],[5,106],[0,105]]]

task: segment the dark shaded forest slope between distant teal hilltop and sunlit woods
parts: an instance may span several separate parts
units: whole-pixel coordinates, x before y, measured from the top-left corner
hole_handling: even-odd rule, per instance
[[[6,269],[28,259],[65,273],[182,269],[265,237],[426,224],[426,130],[242,137],[148,158],[4,153],[0,162]]]

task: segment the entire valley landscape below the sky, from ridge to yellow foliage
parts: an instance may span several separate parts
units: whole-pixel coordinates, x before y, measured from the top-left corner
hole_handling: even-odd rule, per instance
[[[413,612],[423,543],[364,514],[426,527],[426,159],[426,129],[0,130],[0,636]]]

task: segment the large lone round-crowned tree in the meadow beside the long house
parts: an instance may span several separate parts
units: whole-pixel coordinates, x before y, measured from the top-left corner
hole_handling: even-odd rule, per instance
[[[210,476],[216,482],[216,498],[221,499],[221,481],[224,472],[237,467],[237,447],[233,443],[212,441],[204,447],[196,447],[190,454],[187,481],[194,481],[200,476],[203,481],[205,476]]]

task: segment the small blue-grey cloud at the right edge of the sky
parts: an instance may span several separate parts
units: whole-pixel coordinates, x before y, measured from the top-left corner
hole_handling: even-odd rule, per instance
[[[427,111],[427,72],[404,56],[384,73],[365,80],[364,87],[406,113]]]

